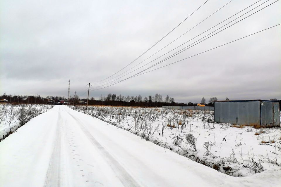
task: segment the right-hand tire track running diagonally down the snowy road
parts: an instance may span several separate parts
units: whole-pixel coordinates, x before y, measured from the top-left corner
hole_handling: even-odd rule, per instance
[[[98,150],[104,156],[105,160],[109,163],[109,166],[115,172],[117,178],[121,181],[121,183],[125,187],[140,187],[138,182],[133,179],[133,177],[124,169],[124,167],[114,157],[112,157],[112,155],[110,155],[107,150],[104,149],[104,147],[94,138],[94,136],[92,136],[92,134],[90,134],[90,132],[83,126],[82,122],[75,116],[71,115],[69,112],[68,114],[77,122],[81,130],[90,139],[92,144],[98,148]]]

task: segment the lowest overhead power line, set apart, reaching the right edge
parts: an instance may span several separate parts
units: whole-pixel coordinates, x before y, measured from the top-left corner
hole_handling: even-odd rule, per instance
[[[276,1],[275,1],[275,2],[276,2]],[[244,38],[246,38],[246,37],[252,36],[252,35],[257,34],[257,33],[259,33],[259,32],[263,32],[263,31],[265,31],[265,30],[271,29],[271,28],[276,27],[276,26],[278,26],[278,25],[281,25],[281,23],[280,23],[280,24],[277,24],[277,25],[274,25],[274,26],[272,26],[272,27],[269,27],[269,28],[267,28],[267,29],[264,29],[264,30],[261,30],[261,31],[255,32],[255,33],[253,33],[253,34],[249,34],[249,35],[247,35],[247,36],[245,36],[245,37],[242,37],[242,38],[239,38],[239,39],[236,39],[236,40],[230,41],[230,42],[225,43],[225,44],[222,44],[222,45],[220,45],[220,46],[214,47],[214,48],[209,49],[209,50],[207,50],[207,51],[211,51],[211,50],[213,50],[213,49],[217,49],[217,48],[219,48],[219,47],[221,47],[221,46],[225,46],[225,45],[227,45],[227,44],[230,44],[230,43],[232,43],[232,42],[238,41],[238,40],[240,40],[240,39],[244,39]],[[194,57],[194,56],[200,55],[200,54],[205,53],[205,52],[207,52],[207,51],[203,51],[203,52],[198,53],[198,54],[196,54],[196,55],[189,56],[189,57],[187,57],[187,58],[184,58],[184,59],[178,60],[178,61],[176,61],[176,62],[173,62],[173,63],[167,64],[167,65],[164,65],[164,66],[162,66],[162,67],[166,67],[166,66],[168,66],[168,65],[172,65],[172,64],[174,64],[174,63],[178,63],[178,62],[180,62],[180,61],[182,61],[182,60],[186,60],[186,59],[188,59],[188,58],[191,58],[191,57]],[[151,70],[151,71],[154,71],[154,70],[160,69],[160,68],[162,68],[162,67],[158,67],[158,68],[153,69],[153,70]],[[148,72],[151,72],[151,71],[148,71]],[[148,73],[148,72],[145,72],[145,73]],[[139,74],[139,75],[143,75],[143,74],[145,74],[145,73],[142,73],[142,74],[139,74],[139,73],[138,73],[138,74]],[[129,79],[129,78],[132,78],[132,77],[136,77],[136,76],[139,76],[139,75],[135,74],[135,75],[133,75],[133,76],[131,76],[131,77],[128,77],[128,78],[126,78],[126,79]],[[122,82],[122,81],[124,81],[124,80],[126,80],[126,79],[123,79],[123,80],[121,80],[121,81],[119,81],[119,82]],[[119,82],[116,82],[116,83],[114,83],[114,84],[117,84],[117,83],[119,83]],[[114,84],[112,84],[112,85],[114,85]],[[109,85],[109,86],[112,86],[112,85]],[[104,88],[107,88],[107,87],[109,87],[109,86],[106,86],[106,87],[103,87],[103,88],[100,88],[100,89],[104,89]],[[95,90],[100,90],[100,89],[95,89]]]

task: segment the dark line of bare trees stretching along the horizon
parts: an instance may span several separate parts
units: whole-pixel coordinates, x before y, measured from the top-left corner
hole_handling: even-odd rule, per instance
[[[0,96],[0,99],[6,99],[11,103],[33,103],[33,104],[48,104],[49,100],[52,101],[67,101],[68,99],[65,96],[47,96],[46,98],[41,97],[40,95],[32,96],[32,95],[6,95],[4,93]],[[214,106],[215,101],[217,101],[217,97],[211,97],[209,99],[209,103],[206,103],[206,99],[203,97],[201,99],[201,103],[204,103],[205,106]],[[281,109],[281,100],[277,100],[276,98],[269,99],[270,101],[279,101],[280,109]],[[225,101],[229,101],[229,98],[226,98]],[[79,96],[70,98],[71,104],[80,104],[85,105],[87,103],[87,98],[80,99]],[[162,97],[161,94],[156,93],[154,96],[122,96],[121,94],[107,94],[105,96],[100,96],[98,100],[94,97],[89,98],[89,105],[112,105],[112,106],[141,106],[141,107],[161,107],[163,105],[166,106],[197,106],[198,103],[178,103],[174,100],[174,98],[167,95],[165,98]]]

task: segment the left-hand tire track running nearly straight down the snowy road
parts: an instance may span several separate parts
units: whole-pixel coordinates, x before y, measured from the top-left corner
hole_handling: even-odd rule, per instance
[[[52,151],[49,167],[47,170],[44,187],[60,186],[60,159],[61,159],[61,114],[59,112],[59,120],[56,124],[56,138],[54,138],[54,148]]]

